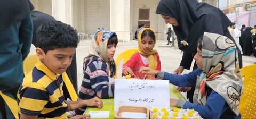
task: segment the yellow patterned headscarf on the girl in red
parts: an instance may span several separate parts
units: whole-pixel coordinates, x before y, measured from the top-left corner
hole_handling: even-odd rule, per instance
[[[149,51],[149,52],[146,52],[143,48],[142,48],[142,42],[141,42],[141,35],[143,33],[143,31],[145,30],[151,30],[154,32],[154,30],[150,29],[150,28],[143,28],[140,30],[139,34],[138,34],[138,44],[139,44],[139,53],[142,54],[142,55],[148,55],[148,65],[151,69],[154,69],[156,70],[156,67],[157,67],[157,58],[156,58],[156,55],[157,54],[157,51],[154,48],[155,44],[156,44],[156,33],[154,32],[154,35],[155,35],[155,40],[154,40],[154,46],[153,48]],[[150,77],[150,75],[149,75]]]

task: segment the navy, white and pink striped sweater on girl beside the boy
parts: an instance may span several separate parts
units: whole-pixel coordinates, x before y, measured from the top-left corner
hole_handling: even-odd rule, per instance
[[[110,74],[111,75],[111,74]],[[84,77],[78,92],[78,100],[114,97],[114,84],[109,82],[107,64],[97,56],[92,56],[84,62]],[[109,86],[110,85],[110,86]],[[82,114],[86,107],[77,109],[77,114]]]

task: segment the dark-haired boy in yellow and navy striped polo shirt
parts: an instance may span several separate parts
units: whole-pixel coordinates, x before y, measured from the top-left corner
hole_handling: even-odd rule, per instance
[[[78,43],[76,31],[60,21],[46,22],[37,30],[39,57],[34,69],[23,79],[18,92],[20,118],[67,118],[67,111],[84,106],[102,107],[99,98],[64,101],[63,79]],[[73,118],[86,118],[77,115]],[[90,118],[90,117],[89,117]]]

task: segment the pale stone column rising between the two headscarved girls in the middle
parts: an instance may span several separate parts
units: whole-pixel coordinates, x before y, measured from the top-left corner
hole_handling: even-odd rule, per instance
[[[130,40],[130,0],[110,0],[110,31],[118,40]]]

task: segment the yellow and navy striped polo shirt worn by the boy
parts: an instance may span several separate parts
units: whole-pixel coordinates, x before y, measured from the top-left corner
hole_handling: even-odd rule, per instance
[[[19,116],[22,113],[38,118],[67,118],[62,78],[38,60],[19,88]]]

